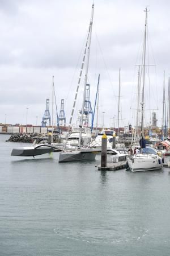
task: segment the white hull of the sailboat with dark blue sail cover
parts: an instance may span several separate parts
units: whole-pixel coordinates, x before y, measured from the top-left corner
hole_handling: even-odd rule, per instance
[[[163,166],[158,155],[148,154],[137,154],[133,158],[128,158],[128,165],[132,172],[156,171]]]

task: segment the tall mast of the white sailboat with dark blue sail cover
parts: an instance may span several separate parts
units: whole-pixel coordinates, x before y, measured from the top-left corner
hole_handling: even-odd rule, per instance
[[[144,38],[144,46],[143,46],[143,87],[142,87],[142,120],[141,120],[141,135],[143,135],[143,115],[144,115],[144,89],[145,89],[145,67],[146,67],[146,30],[147,30],[147,7],[145,9],[146,18],[145,18],[145,38]]]

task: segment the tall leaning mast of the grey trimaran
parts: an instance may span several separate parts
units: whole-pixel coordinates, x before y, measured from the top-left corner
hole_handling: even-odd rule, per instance
[[[92,33],[92,24],[94,19],[94,4],[92,5],[92,12],[91,12],[91,20],[90,20],[90,27],[88,31],[87,42],[88,42],[88,48],[87,48],[87,61],[86,61],[86,72],[85,72],[85,78],[84,78],[84,90],[83,90],[83,102],[82,102],[82,115],[80,119],[80,131],[79,131],[79,147],[82,139],[82,127],[83,127],[83,115],[84,115],[84,102],[86,100],[86,85],[87,85],[87,75],[88,75],[88,64],[89,64],[89,57],[90,57],[90,45],[91,45],[91,33]]]

